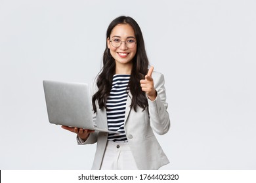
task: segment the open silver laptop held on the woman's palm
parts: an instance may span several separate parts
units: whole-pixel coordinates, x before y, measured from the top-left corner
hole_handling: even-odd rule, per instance
[[[43,89],[51,124],[119,133],[96,127],[88,84],[43,80]]]

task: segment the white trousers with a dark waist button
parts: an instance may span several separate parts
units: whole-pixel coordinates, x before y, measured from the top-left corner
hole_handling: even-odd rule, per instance
[[[137,170],[128,142],[108,141],[101,170]]]

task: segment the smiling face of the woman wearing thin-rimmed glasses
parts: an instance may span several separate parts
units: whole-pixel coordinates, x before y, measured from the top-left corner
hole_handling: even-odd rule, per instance
[[[133,27],[131,27],[131,25],[129,24],[116,25],[116,27],[112,29],[110,37],[108,38],[107,41],[108,41],[108,48],[110,49],[110,54],[116,61],[116,66],[133,64],[131,60],[134,58],[136,54],[137,44],[134,44],[134,46],[131,46],[133,45],[132,42],[136,42],[135,32],[133,30]],[[117,47],[116,43],[119,41],[121,41],[121,45]]]

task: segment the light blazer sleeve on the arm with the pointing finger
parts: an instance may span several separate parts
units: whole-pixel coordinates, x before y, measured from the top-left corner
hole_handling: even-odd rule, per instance
[[[166,103],[165,80],[161,73],[156,72],[152,74],[152,78],[154,79],[157,97],[154,101],[148,99],[150,125],[158,135],[163,135],[167,133],[171,127],[169,113],[167,112],[168,104]]]

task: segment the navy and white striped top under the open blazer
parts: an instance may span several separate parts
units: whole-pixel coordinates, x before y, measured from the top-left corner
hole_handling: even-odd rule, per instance
[[[125,129],[125,107],[128,97],[130,75],[114,75],[112,89],[106,101],[108,129],[121,134],[109,133],[108,141],[128,142]]]

